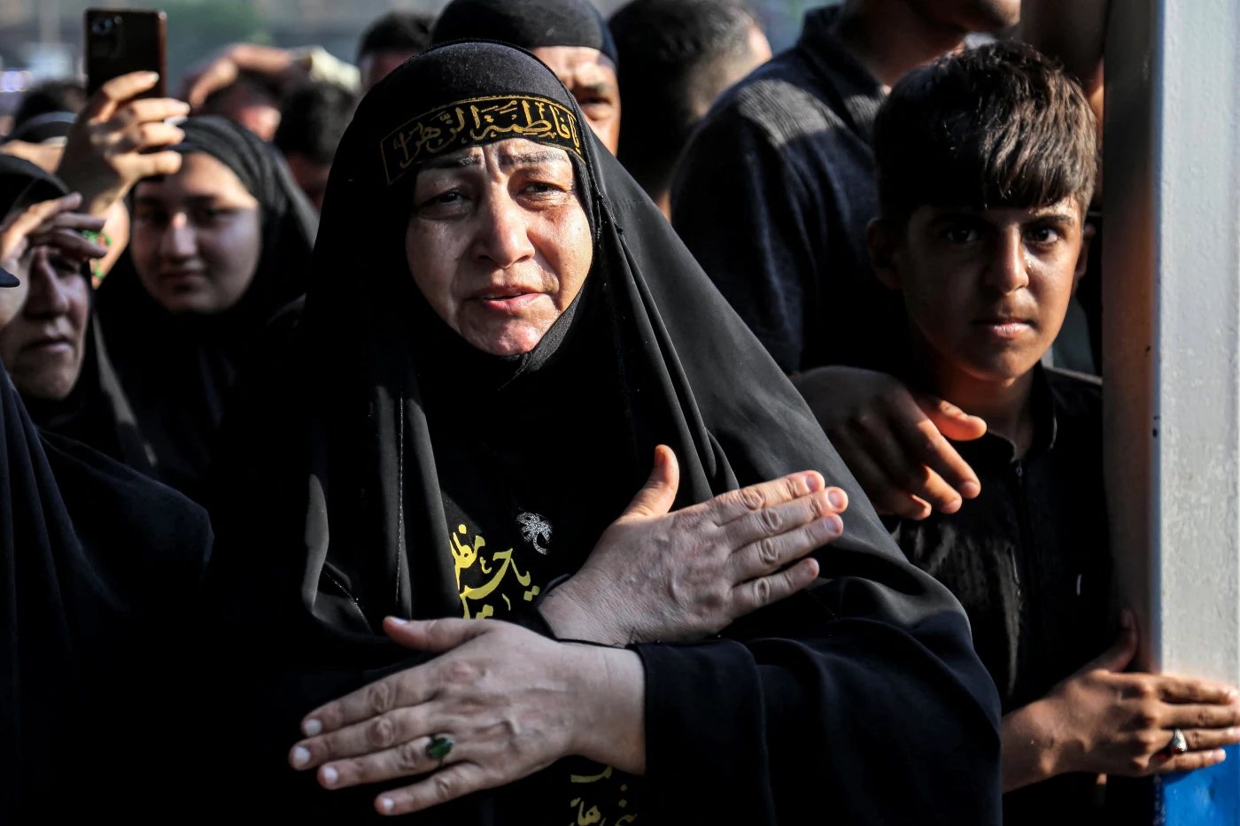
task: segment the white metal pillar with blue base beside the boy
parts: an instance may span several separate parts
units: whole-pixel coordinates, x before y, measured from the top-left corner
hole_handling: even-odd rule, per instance
[[[1105,450],[1118,589],[1142,619],[1142,665],[1236,685],[1240,4],[1115,0],[1105,127]],[[1167,824],[1240,824],[1240,753],[1159,794]]]

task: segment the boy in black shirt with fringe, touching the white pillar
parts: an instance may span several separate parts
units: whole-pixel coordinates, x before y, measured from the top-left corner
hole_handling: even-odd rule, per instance
[[[1094,115],[1050,61],[996,43],[905,76],[874,151],[867,242],[904,296],[904,378],[988,428],[955,445],[981,494],[893,533],[963,603],[998,686],[1004,822],[1096,822],[1097,775],[1213,765],[1240,742],[1240,704],[1228,686],[1120,673],[1137,629],[1125,611],[1112,642],[1101,388],[1040,366],[1085,269]],[[884,464],[872,444],[854,461]]]

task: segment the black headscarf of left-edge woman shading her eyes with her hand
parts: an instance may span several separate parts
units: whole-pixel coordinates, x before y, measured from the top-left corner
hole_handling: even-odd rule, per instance
[[[51,172],[20,158],[0,155],[0,215],[64,195],[68,195],[68,187]],[[89,284],[91,272],[84,264],[82,278]],[[35,398],[22,401],[30,418],[45,430],[87,444],[141,474],[154,476],[150,449],[138,429],[134,411],[112,367],[94,310],[94,290],[91,293],[92,308],[82,342],[82,366],[73,389],[67,397],[55,402]]]

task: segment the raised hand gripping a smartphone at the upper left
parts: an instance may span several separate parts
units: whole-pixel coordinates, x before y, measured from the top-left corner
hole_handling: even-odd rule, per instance
[[[154,72],[108,81],[69,129],[57,174],[82,192],[89,215],[103,216],[144,177],[174,175],[181,169],[181,155],[154,150],[181,143],[185,133],[164,122],[188,114],[190,107],[172,98],[134,99],[157,81]]]

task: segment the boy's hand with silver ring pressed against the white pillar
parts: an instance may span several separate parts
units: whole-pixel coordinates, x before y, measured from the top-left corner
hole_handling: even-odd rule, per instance
[[[1102,656],[1003,718],[1004,791],[1069,771],[1142,776],[1223,762],[1223,747],[1240,743],[1240,693],[1205,680],[1121,673],[1136,652],[1136,618],[1125,611],[1123,630]],[[1177,728],[1189,750],[1168,755]],[[1040,776],[1021,781],[1022,766],[1034,764]]]

